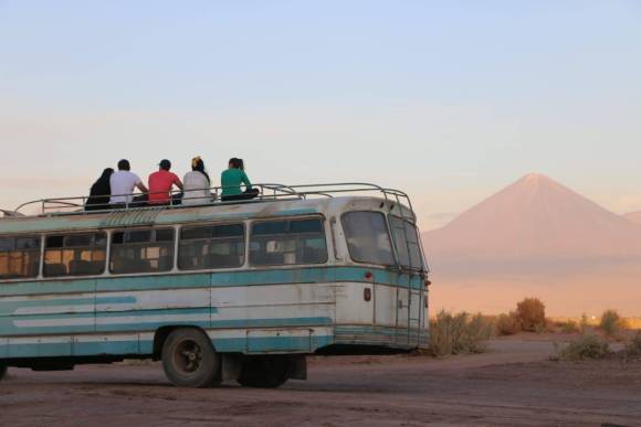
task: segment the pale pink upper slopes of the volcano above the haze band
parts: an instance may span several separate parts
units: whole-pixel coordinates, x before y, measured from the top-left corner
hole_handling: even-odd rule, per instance
[[[641,255],[641,227],[533,173],[423,242],[437,260],[629,257]]]

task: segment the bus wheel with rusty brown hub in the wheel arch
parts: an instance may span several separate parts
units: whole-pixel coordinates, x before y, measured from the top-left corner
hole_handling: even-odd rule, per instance
[[[204,388],[220,384],[221,357],[198,329],[174,330],[162,344],[165,375],[179,387]]]

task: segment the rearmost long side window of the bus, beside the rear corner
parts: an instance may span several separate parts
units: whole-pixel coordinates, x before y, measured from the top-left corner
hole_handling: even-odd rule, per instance
[[[254,266],[327,263],[319,218],[270,221],[252,225],[250,260]]]

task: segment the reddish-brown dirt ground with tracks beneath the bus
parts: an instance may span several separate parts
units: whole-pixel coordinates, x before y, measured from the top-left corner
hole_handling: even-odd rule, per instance
[[[549,342],[491,352],[313,357],[309,380],[280,389],[179,389],[160,365],[10,370],[0,425],[624,425],[641,426],[641,363],[547,361]]]

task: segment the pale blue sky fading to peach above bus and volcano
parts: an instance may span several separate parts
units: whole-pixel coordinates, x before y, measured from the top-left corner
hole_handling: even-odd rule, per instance
[[[641,211],[641,2],[0,0],[0,149],[4,209],[201,156],[423,229],[530,172]]]

